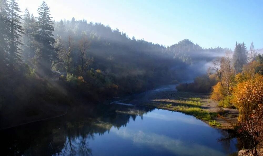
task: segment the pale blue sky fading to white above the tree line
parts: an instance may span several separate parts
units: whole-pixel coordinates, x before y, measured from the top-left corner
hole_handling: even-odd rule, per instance
[[[18,0],[34,16],[43,0]],[[100,22],[129,37],[162,45],[189,39],[204,48],[253,41],[263,48],[263,1],[45,0],[54,20]]]

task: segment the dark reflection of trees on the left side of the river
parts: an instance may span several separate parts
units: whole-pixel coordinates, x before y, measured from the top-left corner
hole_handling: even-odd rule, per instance
[[[130,119],[152,111],[147,107],[117,105],[78,106],[58,119],[2,132],[3,155],[92,155],[89,141],[112,127],[127,126]]]

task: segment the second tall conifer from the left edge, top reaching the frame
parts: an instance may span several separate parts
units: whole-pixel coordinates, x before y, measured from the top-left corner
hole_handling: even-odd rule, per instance
[[[9,62],[10,66],[14,67],[15,64],[21,62],[22,50],[19,46],[22,45],[21,37],[23,34],[23,27],[21,26],[21,15],[19,15],[20,8],[16,2],[17,0],[11,0],[10,2],[10,33],[9,33]]]

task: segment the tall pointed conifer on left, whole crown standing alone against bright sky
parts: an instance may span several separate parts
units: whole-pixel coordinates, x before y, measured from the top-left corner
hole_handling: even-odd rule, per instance
[[[37,71],[41,76],[43,74],[50,74],[50,69],[52,67],[52,61],[57,58],[55,52],[54,43],[55,39],[52,37],[52,31],[54,27],[50,17],[50,10],[47,4],[43,1],[38,8],[38,31],[35,35],[36,41],[39,42],[38,50],[36,52],[36,65]]]

